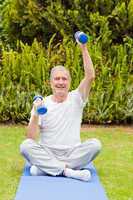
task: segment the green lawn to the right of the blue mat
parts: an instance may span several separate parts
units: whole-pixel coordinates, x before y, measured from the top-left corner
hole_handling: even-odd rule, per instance
[[[82,138],[99,138],[103,150],[95,160],[110,200],[133,200],[133,132],[123,128],[97,128]]]

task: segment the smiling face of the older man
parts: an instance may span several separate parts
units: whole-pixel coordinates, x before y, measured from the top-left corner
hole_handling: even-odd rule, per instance
[[[51,79],[51,88],[56,96],[66,96],[70,87],[70,77],[66,71],[55,71]]]

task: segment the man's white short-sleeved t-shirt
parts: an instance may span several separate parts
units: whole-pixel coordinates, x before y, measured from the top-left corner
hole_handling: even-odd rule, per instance
[[[44,99],[47,113],[39,116],[40,143],[52,147],[71,147],[80,141],[80,127],[85,102],[78,89],[68,93],[64,102],[57,103],[52,95]]]

